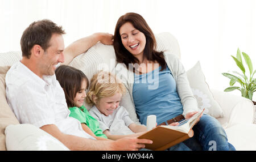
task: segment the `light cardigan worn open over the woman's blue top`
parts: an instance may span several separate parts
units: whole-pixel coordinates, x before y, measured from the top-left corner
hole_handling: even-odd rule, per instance
[[[197,101],[193,96],[191,87],[187,79],[187,74],[183,65],[180,62],[180,59],[177,58],[174,54],[164,52],[164,59],[166,60],[167,66],[171,70],[172,75],[176,81],[177,92],[180,96],[181,104],[183,105],[183,116],[189,112],[199,111],[197,106]],[[122,83],[125,84],[127,89],[125,95],[123,95],[120,105],[125,107],[130,114],[131,120],[139,123],[135,105],[133,101],[133,84],[134,84],[134,73],[129,71],[126,68],[124,63],[118,63],[115,66],[115,75],[122,80]],[[169,119],[168,119],[169,120]]]

